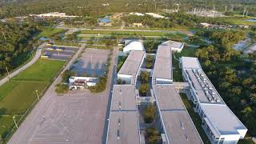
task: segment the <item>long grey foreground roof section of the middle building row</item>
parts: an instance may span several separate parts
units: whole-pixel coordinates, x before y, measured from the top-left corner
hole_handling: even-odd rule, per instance
[[[154,85],[153,88],[169,143],[202,143],[174,85]]]

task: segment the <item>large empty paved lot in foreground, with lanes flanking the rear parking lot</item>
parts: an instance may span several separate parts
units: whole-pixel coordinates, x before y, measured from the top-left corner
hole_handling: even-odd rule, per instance
[[[82,49],[78,50],[64,70],[75,62],[81,52]],[[117,54],[118,49],[115,49],[104,92],[72,91],[65,96],[57,96],[54,86],[62,79],[58,76],[8,143],[101,144],[105,138],[104,122],[108,118],[106,113],[109,111],[107,106],[115,78],[112,76]]]

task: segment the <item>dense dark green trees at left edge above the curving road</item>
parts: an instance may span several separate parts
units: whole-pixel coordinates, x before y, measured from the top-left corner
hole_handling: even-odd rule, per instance
[[[30,58],[34,50],[33,36],[39,32],[33,24],[0,23],[0,77]]]

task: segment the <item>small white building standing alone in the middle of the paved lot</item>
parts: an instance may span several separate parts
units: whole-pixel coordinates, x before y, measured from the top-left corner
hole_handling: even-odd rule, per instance
[[[96,86],[98,83],[98,78],[92,77],[70,77],[69,86],[70,90],[83,90],[86,87]]]

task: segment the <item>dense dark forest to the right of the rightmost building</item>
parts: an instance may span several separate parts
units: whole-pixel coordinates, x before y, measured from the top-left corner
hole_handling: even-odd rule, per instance
[[[218,89],[230,109],[256,135],[256,54],[242,54],[232,49],[234,43],[246,38],[246,33],[236,30],[209,30],[200,32],[214,45],[202,47],[196,56],[203,69]]]

